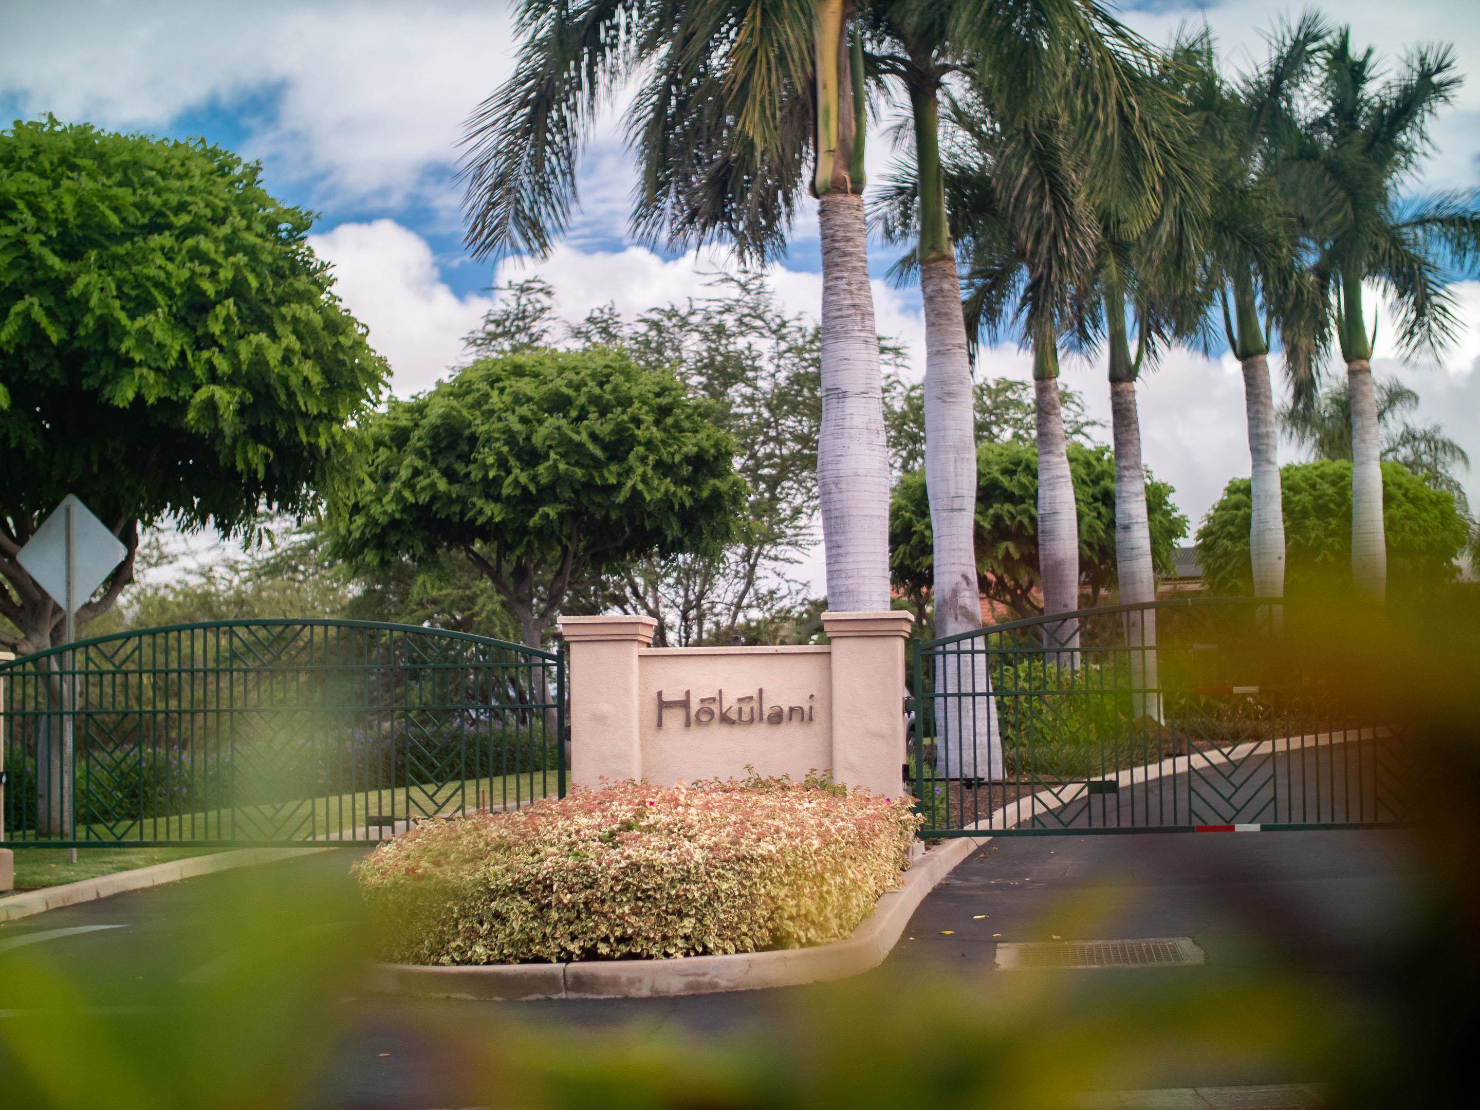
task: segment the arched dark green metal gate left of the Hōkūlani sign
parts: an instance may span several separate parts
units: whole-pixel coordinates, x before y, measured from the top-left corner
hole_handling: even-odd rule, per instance
[[[237,620],[0,665],[6,847],[354,844],[565,793],[561,654]]]

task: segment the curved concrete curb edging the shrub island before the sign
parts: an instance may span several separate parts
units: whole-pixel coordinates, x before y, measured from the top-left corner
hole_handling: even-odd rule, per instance
[[[847,940],[810,949],[746,952],[682,959],[589,961],[423,966],[374,963],[377,995],[514,1000],[537,998],[670,998],[724,990],[762,990],[858,975],[876,968],[904,932],[910,915],[935,885],[978,847],[958,838],[919,855],[897,889],[885,891],[873,913]]]

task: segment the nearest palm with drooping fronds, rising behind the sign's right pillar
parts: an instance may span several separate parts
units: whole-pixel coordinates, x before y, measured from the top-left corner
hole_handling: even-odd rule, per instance
[[[743,260],[764,260],[784,247],[801,194],[817,197],[827,598],[887,610],[889,468],[852,19],[850,0],[524,0],[515,74],[469,121],[463,176],[475,256],[548,252],[598,108],[639,80],[641,237],[688,247],[724,235]]]

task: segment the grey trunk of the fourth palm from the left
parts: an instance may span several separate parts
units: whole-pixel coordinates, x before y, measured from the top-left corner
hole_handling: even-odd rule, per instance
[[[1141,419],[1135,380],[1110,382],[1110,426],[1114,438],[1114,558],[1120,604],[1156,601],[1151,524],[1146,512],[1146,469],[1141,465]],[[1125,644],[1131,654],[1131,712],[1162,719],[1156,669],[1156,610],[1126,613]]]

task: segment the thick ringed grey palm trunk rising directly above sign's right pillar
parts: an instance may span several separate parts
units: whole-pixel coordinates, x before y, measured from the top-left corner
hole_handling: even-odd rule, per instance
[[[889,457],[863,197],[824,194],[818,222],[823,422],[817,491],[827,605],[836,611],[878,611],[889,608]]]

